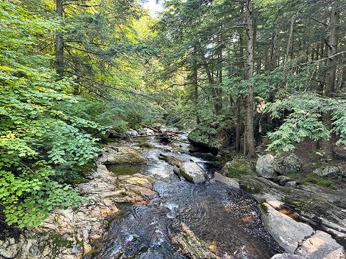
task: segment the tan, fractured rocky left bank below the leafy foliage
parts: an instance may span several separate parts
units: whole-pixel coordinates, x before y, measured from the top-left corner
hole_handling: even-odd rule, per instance
[[[142,174],[116,176],[106,164],[145,164],[130,147],[105,146],[95,168],[77,185],[89,203],[77,207],[54,208],[38,228],[9,228],[0,239],[0,258],[76,259],[92,251],[92,244],[105,234],[106,218],[117,213],[118,203],[146,205],[158,197],[153,177]]]

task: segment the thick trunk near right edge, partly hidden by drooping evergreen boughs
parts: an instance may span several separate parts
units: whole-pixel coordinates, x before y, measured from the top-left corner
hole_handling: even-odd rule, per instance
[[[331,8],[330,21],[328,25],[328,49],[327,49],[327,72],[326,72],[326,88],[325,96],[330,98],[334,94],[335,88],[335,71],[336,71],[336,57],[332,57],[337,52],[337,29],[339,23],[340,11],[338,9],[339,0],[334,1],[334,5]],[[327,130],[332,129],[331,112],[325,112],[322,114],[322,120]],[[322,146],[325,151],[325,158],[331,159],[334,156],[332,138],[329,140],[322,140]]]

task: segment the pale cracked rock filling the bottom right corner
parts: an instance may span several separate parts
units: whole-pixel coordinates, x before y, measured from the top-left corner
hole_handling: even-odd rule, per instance
[[[344,259],[344,248],[327,233],[317,231],[306,239],[297,249],[296,254],[313,259]]]

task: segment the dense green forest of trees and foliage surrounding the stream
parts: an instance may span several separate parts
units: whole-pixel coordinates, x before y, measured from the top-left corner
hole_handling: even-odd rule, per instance
[[[346,144],[344,0],[0,2],[0,208],[38,226],[101,143],[157,122],[249,158]],[[321,140],[321,141],[320,141]],[[220,150],[220,142],[214,148]]]

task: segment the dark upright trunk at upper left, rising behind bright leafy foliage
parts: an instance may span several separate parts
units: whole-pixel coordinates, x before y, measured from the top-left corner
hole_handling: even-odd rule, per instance
[[[60,20],[60,25],[63,25],[64,7],[63,0],[56,0],[56,13]],[[55,58],[56,58],[56,73],[59,78],[64,77],[64,36],[63,32],[59,31],[56,35]]]

